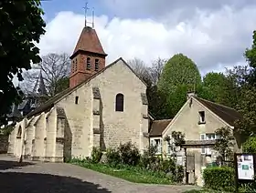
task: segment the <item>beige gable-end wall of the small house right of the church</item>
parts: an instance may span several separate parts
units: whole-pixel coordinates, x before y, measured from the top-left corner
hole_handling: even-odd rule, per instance
[[[205,111],[205,124],[198,124],[199,111]],[[171,121],[163,132],[163,139],[172,135],[173,131],[180,131],[185,134],[186,140],[200,140],[201,134],[214,134],[220,127],[231,127],[222,119],[213,114],[207,107],[200,104],[197,99],[188,99],[184,107],[180,109],[176,117]],[[237,146],[236,146],[237,147]],[[167,142],[163,140],[163,151],[167,151]],[[201,154],[201,148],[187,148],[187,154],[195,155],[195,176],[197,185],[203,185],[202,171],[207,163],[216,159],[215,155],[206,156]]]

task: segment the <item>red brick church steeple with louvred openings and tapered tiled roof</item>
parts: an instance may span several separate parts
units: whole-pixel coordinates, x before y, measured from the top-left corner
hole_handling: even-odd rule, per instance
[[[99,37],[91,26],[84,26],[71,59],[69,87],[81,82],[105,67],[105,57]]]

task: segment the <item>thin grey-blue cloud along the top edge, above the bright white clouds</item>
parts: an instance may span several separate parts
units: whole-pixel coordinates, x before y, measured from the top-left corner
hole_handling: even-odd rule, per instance
[[[189,18],[197,8],[203,10],[218,10],[223,5],[240,9],[245,5],[256,5],[251,0],[103,0],[103,4],[115,15],[122,17],[154,17],[159,18],[169,13],[178,12],[179,19]]]

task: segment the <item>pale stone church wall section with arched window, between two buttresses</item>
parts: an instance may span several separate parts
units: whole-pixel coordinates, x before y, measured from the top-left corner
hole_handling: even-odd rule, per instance
[[[101,92],[102,108],[102,143],[105,147],[117,147],[127,141],[143,147],[142,132],[147,132],[148,121],[144,121],[143,111],[147,107],[142,103],[141,93],[145,93],[146,86],[133,74],[123,61],[111,66],[101,75],[91,80],[91,86],[97,86]],[[115,111],[115,96],[124,96],[123,112]],[[146,144],[147,145],[147,144]]]

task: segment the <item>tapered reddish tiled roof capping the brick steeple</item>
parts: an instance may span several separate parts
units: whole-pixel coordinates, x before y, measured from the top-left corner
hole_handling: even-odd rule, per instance
[[[78,51],[86,51],[107,56],[101,46],[100,39],[97,36],[95,29],[90,26],[83,27],[77,46],[70,58],[72,58]]]

